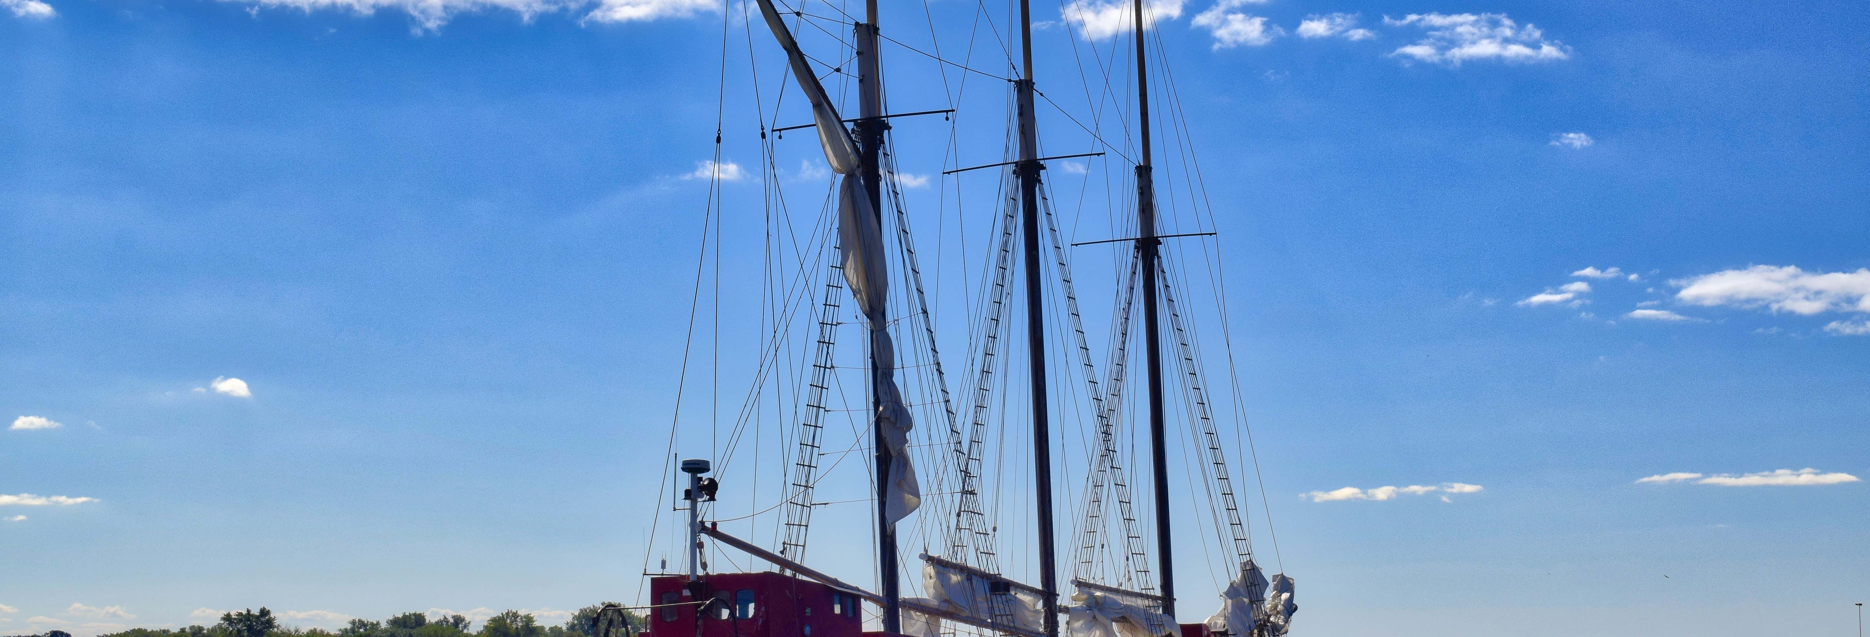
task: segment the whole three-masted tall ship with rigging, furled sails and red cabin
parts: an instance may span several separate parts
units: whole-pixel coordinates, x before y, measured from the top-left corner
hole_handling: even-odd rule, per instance
[[[785,2],[752,0],[724,22],[722,125],[696,176],[711,196],[679,379],[690,398],[669,422],[643,592],[608,607],[597,633],[1288,633],[1292,577],[1268,575],[1253,542],[1272,512],[1251,519],[1255,493],[1236,488],[1236,467],[1257,478],[1259,465],[1219,230],[1150,6],[1066,6],[1081,73],[1058,93],[1083,84],[1073,112],[1034,77],[1028,0],[1004,15],[963,6],[965,45],[935,39],[933,19],[926,45],[888,37],[877,0]],[[1100,43],[1094,21],[1118,30]],[[735,82],[731,35],[746,45]],[[898,84],[948,103],[890,108],[883,58],[898,54],[918,62],[892,65]],[[729,101],[757,120],[731,118]],[[1042,149],[1045,118],[1073,151]],[[935,142],[898,146],[898,127],[935,129],[916,136]],[[729,192],[748,170],[722,140],[754,129],[759,194]],[[933,157],[941,177],[899,172]],[[931,179],[939,194],[920,200],[935,198],[933,215],[918,213],[905,191]],[[1066,192],[1075,209],[1055,198],[1060,183],[1079,191]],[[1086,207],[1103,228],[1083,222]],[[1094,329],[1079,262],[1101,290],[1085,299],[1107,301]],[[1187,291],[1201,282],[1206,316]],[[727,390],[718,362],[696,372],[724,338],[757,344],[737,349],[750,370]],[[692,398],[703,385],[711,405]],[[1264,486],[1257,495],[1264,504]]]

